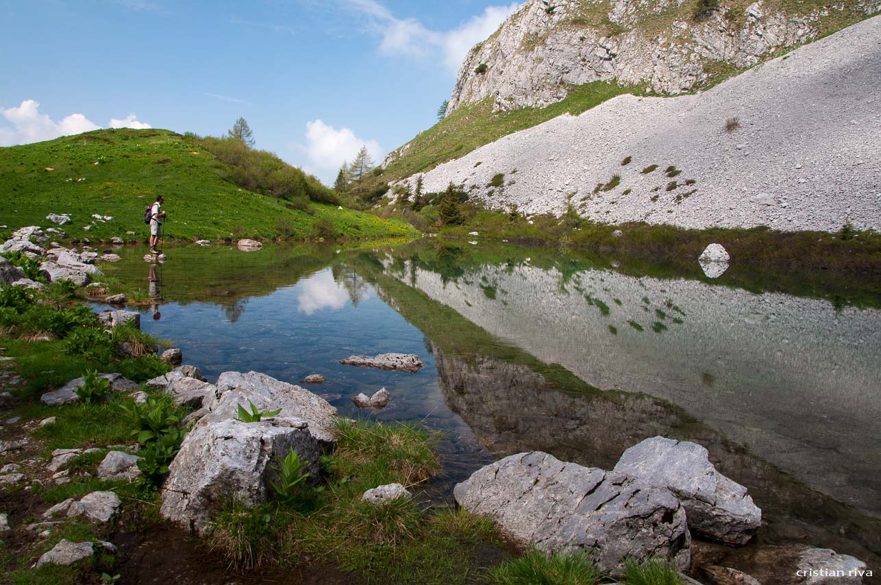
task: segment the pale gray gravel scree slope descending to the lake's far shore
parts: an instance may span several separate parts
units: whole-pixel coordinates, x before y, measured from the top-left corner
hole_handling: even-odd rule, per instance
[[[529,213],[559,215],[571,201],[603,223],[881,229],[879,80],[881,16],[706,93],[620,96],[503,137],[424,174],[425,190],[464,183],[486,204]],[[681,174],[668,177],[670,166]],[[504,189],[486,187],[497,173]],[[594,193],[614,174],[617,187]]]

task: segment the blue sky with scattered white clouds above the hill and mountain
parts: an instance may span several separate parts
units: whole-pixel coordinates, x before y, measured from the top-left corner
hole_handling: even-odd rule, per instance
[[[256,146],[333,181],[436,121],[504,0],[0,0],[0,146],[147,124]]]

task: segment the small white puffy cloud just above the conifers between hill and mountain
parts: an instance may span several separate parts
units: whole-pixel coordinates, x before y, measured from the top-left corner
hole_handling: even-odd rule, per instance
[[[330,184],[337,178],[339,167],[345,161],[352,162],[361,146],[367,147],[374,162],[381,161],[384,152],[375,140],[359,138],[348,128],[337,130],[322,120],[313,120],[306,122],[306,145],[300,148],[306,152],[315,176]]]

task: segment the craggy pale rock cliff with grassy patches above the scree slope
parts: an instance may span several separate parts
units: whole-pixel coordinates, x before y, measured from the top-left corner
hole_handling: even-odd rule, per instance
[[[470,50],[447,113],[487,98],[494,110],[543,107],[573,85],[600,80],[687,92],[711,69],[751,67],[813,40],[826,19],[852,23],[881,7],[854,4],[787,11],[760,0],[745,10],[725,2],[701,9],[681,0],[529,0]]]

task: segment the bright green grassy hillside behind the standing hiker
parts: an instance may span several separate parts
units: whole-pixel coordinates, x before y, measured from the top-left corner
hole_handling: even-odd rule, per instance
[[[0,235],[20,226],[54,226],[47,214],[63,213],[73,220],[62,226],[70,239],[145,239],[144,206],[159,194],[166,198],[167,239],[416,234],[395,220],[336,205],[295,209],[304,205],[240,189],[223,178],[231,174],[196,138],[169,130],[95,130],[0,148],[0,225],[8,226]],[[113,220],[103,223],[93,214]]]

